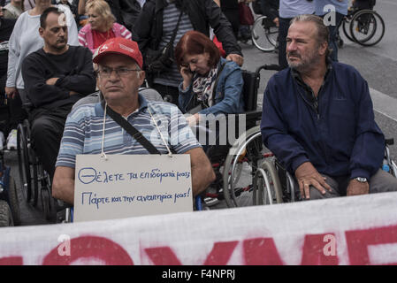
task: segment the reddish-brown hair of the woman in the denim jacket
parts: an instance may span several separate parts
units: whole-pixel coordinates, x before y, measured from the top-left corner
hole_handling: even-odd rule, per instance
[[[210,55],[208,65],[211,67],[216,66],[220,59],[217,45],[207,35],[191,30],[180,38],[175,47],[175,60],[180,68],[180,65],[185,64],[183,62],[185,55],[198,55],[205,52]]]

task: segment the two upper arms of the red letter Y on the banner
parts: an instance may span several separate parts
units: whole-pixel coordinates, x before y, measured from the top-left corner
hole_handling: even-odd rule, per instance
[[[220,241],[214,243],[214,247],[204,261],[204,265],[227,264],[238,243],[238,241]],[[145,252],[155,265],[181,265],[178,257],[170,247],[147,248]]]

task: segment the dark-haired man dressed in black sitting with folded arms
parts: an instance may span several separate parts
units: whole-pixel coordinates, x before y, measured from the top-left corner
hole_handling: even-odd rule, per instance
[[[31,137],[35,153],[52,180],[59,143],[73,103],[95,91],[92,53],[67,44],[63,12],[50,7],[42,12],[39,33],[44,47],[23,61]]]

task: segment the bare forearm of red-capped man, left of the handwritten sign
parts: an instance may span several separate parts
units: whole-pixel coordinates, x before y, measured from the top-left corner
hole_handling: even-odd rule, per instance
[[[74,203],[74,168],[57,166],[52,180],[52,196],[65,203]]]

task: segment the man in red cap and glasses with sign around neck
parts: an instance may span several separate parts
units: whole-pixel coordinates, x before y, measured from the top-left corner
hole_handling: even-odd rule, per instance
[[[106,105],[141,132],[160,153],[167,154],[171,149],[190,155],[194,195],[208,187],[215,180],[215,173],[178,107],[147,101],[139,94],[145,72],[141,71],[142,56],[137,43],[112,38],[98,48],[93,61],[98,65],[97,84],[104,101],[80,105],[69,114],[57,157],[53,196],[66,203],[74,202],[77,154],[149,154],[111,119],[104,111]]]

